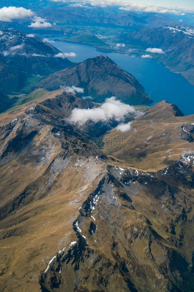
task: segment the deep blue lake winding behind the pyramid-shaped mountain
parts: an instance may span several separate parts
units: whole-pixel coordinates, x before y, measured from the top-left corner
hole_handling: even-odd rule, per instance
[[[178,105],[185,115],[194,114],[194,86],[183,76],[170,72],[162,63],[119,53],[99,52],[91,46],[62,41],[56,41],[52,45],[63,53],[76,53],[75,58],[69,58],[73,62],[107,55],[122,69],[137,78],[154,103],[167,100],[169,103]]]

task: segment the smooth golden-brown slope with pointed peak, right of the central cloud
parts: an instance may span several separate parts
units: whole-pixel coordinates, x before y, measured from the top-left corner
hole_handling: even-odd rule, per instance
[[[121,133],[113,129],[105,138],[123,137],[122,153],[112,154],[123,165],[157,171],[170,166],[185,151],[193,151],[189,143],[185,148],[180,133],[181,121],[192,124],[193,115],[183,116],[176,105],[161,101],[136,117],[130,124],[129,132]]]

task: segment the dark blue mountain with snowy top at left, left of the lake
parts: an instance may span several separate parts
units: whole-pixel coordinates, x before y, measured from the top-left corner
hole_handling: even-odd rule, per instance
[[[67,58],[54,58],[60,51],[34,34],[0,28],[0,39],[0,91],[17,92],[29,75],[45,76],[73,65]]]

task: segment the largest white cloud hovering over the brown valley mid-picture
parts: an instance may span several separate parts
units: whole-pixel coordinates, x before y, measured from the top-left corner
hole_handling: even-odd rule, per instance
[[[133,106],[124,104],[116,100],[115,96],[107,98],[99,107],[93,109],[73,109],[70,117],[67,119],[70,123],[84,125],[87,121],[108,121],[114,119],[116,121],[124,120],[129,113],[137,113]]]

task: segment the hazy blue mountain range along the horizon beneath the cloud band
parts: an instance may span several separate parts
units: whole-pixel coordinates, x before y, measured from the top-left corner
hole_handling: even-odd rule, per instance
[[[59,5],[59,4],[58,4]],[[52,13],[50,13],[52,11]],[[60,9],[41,7],[39,15],[49,21],[63,25],[92,25],[102,27],[128,27],[135,30],[140,27],[159,27],[174,25],[177,20],[156,13],[136,13],[118,10],[114,6],[91,6],[83,3],[63,3]]]

